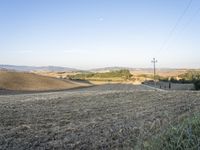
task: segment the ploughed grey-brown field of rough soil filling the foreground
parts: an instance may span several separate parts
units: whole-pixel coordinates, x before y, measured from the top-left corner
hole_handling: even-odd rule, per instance
[[[0,96],[0,149],[137,149],[200,108],[199,92],[102,85]]]

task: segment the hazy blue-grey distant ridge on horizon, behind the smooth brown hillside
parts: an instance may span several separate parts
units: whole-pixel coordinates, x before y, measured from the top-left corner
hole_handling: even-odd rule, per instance
[[[30,72],[30,71],[55,71],[55,72],[72,72],[72,71],[78,71],[74,68],[68,68],[68,67],[58,67],[58,66],[41,66],[41,67],[35,67],[35,66],[15,66],[15,65],[0,65],[0,70],[15,70],[15,71],[23,71],[23,72]]]

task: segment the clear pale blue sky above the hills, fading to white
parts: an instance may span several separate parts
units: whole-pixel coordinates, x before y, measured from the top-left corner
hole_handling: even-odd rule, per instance
[[[200,68],[199,40],[199,0],[0,0],[0,64]]]

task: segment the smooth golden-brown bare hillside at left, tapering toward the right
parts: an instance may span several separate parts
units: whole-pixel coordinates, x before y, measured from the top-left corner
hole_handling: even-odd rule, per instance
[[[44,77],[33,73],[0,71],[0,89],[16,91],[63,90],[89,86],[69,80]]]

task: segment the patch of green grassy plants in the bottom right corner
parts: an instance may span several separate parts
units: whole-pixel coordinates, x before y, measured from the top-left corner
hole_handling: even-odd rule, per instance
[[[194,116],[172,126],[152,139],[148,150],[198,150],[200,149],[200,116]]]

